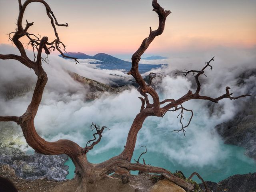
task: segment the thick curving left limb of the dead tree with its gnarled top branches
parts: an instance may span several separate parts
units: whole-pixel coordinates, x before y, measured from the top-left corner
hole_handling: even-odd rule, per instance
[[[48,6],[48,4],[44,0],[26,0],[24,4],[21,3],[21,0],[18,0],[19,3],[19,16],[17,20],[17,29],[16,32],[12,32],[9,34],[10,40],[15,44],[15,46],[18,48],[20,51],[20,56],[14,55],[14,54],[0,54],[0,59],[6,60],[6,59],[13,59],[13,60],[18,60],[28,68],[32,68],[36,74],[37,82],[36,82],[36,87],[34,89],[34,93],[31,99],[31,102],[26,110],[26,112],[20,116],[1,116],[0,117],[0,122],[1,121],[12,121],[16,122],[19,124],[22,128],[22,132],[24,134],[24,137],[26,139],[26,142],[36,151],[40,152],[42,154],[50,154],[50,155],[55,155],[55,154],[67,154],[72,158],[74,164],[77,164],[77,156],[81,156],[81,150],[82,148],[76,144],[75,142],[72,142],[70,140],[58,140],[56,142],[47,142],[43,138],[41,138],[34,127],[34,118],[36,116],[36,113],[38,111],[38,107],[40,105],[40,102],[42,100],[42,94],[44,92],[44,87],[48,81],[47,74],[44,72],[42,68],[42,50],[45,50],[46,54],[50,54],[48,48],[46,45],[53,45],[53,43],[48,42],[47,37],[37,37],[34,34],[30,34],[28,32],[29,28],[33,25],[33,22],[28,22],[26,20],[26,26],[23,28],[22,27],[22,19],[24,12],[26,10],[26,7],[28,4],[32,2],[40,2],[44,4],[46,7],[46,12],[49,16],[49,18],[53,18],[55,20],[56,25],[58,26],[68,26],[67,24],[58,24],[52,10]],[[54,40],[54,43],[59,43],[59,38],[58,34],[56,32],[55,25],[52,24],[52,27],[54,29],[54,33],[56,36],[56,40]],[[11,34],[13,36],[11,37]],[[20,38],[23,36],[28,37],[30,42],[28,43],[32,45],[34,49],[37,50],[37,55],[34,53],[34,57],[36,60],[32,61],[28,58],[26,55],[25,49],[23,44],[20,42]],[[53,45],[54,46],[54,45]],[[76,59],[76,58],[74,58]],[[43,59],[44,60],[44,59]],[[47,60],[47,57],[46,57]],[[44,60],[44,61],[46,61]],[[83,159],[84,162],[86,162],[86,158]],[[86,166],[86,165],[85,165]]]

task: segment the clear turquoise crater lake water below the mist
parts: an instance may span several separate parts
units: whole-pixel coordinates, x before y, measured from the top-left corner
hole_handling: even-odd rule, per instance
[[[222,144],[222,148],[229,152],[227,158],[223,158],[216,165],[209,164],[202,167],[184,166],[179,162],[169,159],[160,152],[157,153],[148,151],[142,156],[142,158],[146,160],[146,163],[152,164],[152,166],[159,166],[170,170],[171,172],[181,170],[187,177],[190,176],[192,172],[198,172],[202,176],[202,178],[204,178],[204,180],[212,182],[219,182],[234,174],[246,174],[249,172],[256,172],[256,162],[253,159],[248,158],[244,155],[244,148],[226,144]],[[121,152],[121,150],[111,149],[96,155],[90,155],[90,153],[88,153],[88,160],[92,163],[99,163],[113,157],[119,152]],[[138,158],[141,152],[142,149],[135,150],[133,157]],[[202,156],[203,155],[204,154],[202,154]],[[134,162],[134,160],[132,160],[132,162]],[[66,176],[66,179],[74,178],[75,166],[72,160],[69,159],[68,161],[66,161],[65,165],[69,166],[69,174],[68,176]],[[132,174],[136,174],[136,172],[133,172]],[[200,182],[200,180],[196,179],[196,177],[194,178],[194,180]]]

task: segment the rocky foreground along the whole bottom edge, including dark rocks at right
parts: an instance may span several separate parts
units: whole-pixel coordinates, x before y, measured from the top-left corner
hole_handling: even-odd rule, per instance
[[[48,179],[27,180],[16,176],[9,165],[0,165],[0,176],[10,179],[19,192],[74,192],[76,180],[54,181]],[[130,183],[122,184],[120,176],[107,176],[100,182],[90,184],[89,192],[185,192],[176,184],[159,179],[153,174],[131,176]],[[221,182],[206,181],[212,192],[256,192],[256,173],[234,175]],[[203,184],[199,186],[204,190]]]

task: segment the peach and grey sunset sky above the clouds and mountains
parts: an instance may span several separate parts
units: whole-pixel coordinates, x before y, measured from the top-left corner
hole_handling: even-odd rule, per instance
[[[22,0],[24,2],[24,0]],[[46,0],[59,23],[58,34],[68,52],[94,55],[131,55],[158,27],[151,0]],[[256,0],[158,0],[172,13],[164,33],[146,54],[168,56],[170,52],[222,47],[255,48]],[[8,42],[18,17],[18,0],[0,0],[0,43]],[[27,7],[24,23],[34,22],[30,33],[53,37],[50,20],[40,3]]]

